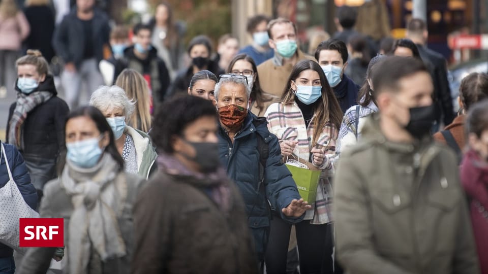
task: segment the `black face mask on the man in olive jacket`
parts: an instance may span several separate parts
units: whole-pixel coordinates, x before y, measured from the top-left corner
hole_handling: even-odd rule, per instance
[[[434,105],[418,108],[410,108],[410,121],[405,126],[412,136],[421,139],[423,136],[430,134],[432,125],[436,120]]]

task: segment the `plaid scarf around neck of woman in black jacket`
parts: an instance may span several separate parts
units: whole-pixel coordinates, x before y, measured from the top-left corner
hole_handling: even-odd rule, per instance
[[[23,149],[22,126],[27,114],[35,107],[52,97],[49,91],[36,91],[31,94],[17,93],[17,102],[9,123],[9,144]]]

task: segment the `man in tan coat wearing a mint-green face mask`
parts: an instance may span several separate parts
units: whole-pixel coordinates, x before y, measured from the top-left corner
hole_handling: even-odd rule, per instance
[[[278,18],[268,23],[269,47],[275,56],[258,66],[261,88],[281,98],[293,66],[300,60],[312,59],[298,49],[297,29],[290,20]]]

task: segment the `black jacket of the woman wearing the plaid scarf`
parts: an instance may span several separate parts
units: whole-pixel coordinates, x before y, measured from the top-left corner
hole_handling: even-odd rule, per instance
[[[17,92],[21,92],[17,83],[15,89]],[[47,181],[55,178],[57,157],[60,151],[65,150],[65,122],[69,108],[63,99],[57,97],[54,79],[51,75],[46,76],[44,82],[39,84],[37,91],[48,91],[53,95],[27,114],[22,127],[24,148],[20,153],[27,165],[32,183],[37,189],[42,190]],[[6,128],[7,142],[10,119],[16,104],[14,102],[9,110]]]

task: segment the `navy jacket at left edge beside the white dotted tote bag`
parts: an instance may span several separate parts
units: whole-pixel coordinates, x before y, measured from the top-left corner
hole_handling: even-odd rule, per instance
[[[2,143],[2,142],[0,142]],[[12,177],[14,178],[15,184],[19,188],[20,194],[24,198],[25,202],[32,209],[36,209],[37,205],[37,193],[36,188],[31,184],[31,177],[27,172],[27,167],[25,166],[24,159],[20,155],[17,148],[13,145],[3,143],[5,147],[5,154],[9,161],[10,171],[12,172]],[[1,155],[0,158],[0,188],[4,187],[10,180],[9,174],[7,172],[7,165],[5,164],[4,156]],[[13,254],[13,249],[10,247],[0,244],[0,258],[10,257]]]

